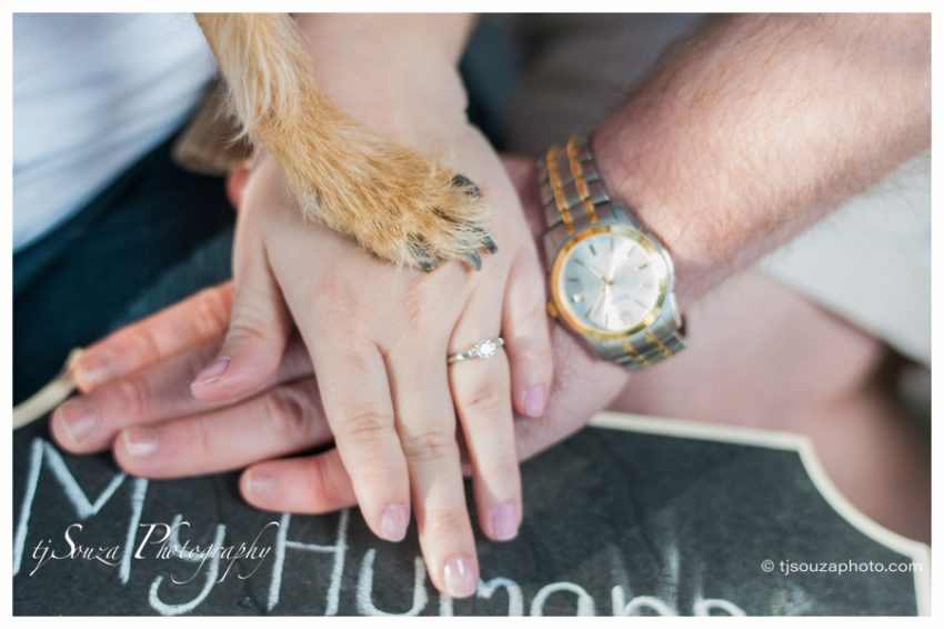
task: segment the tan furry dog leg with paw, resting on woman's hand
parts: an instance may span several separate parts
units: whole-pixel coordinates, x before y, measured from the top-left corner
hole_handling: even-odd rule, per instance
[[[379,257],[432,270],[481,266],[492,251],[479,188],[339,111],[315,88],[294,20],[277,13],[200,13],[243,132],[282,167],[307,217]]]

